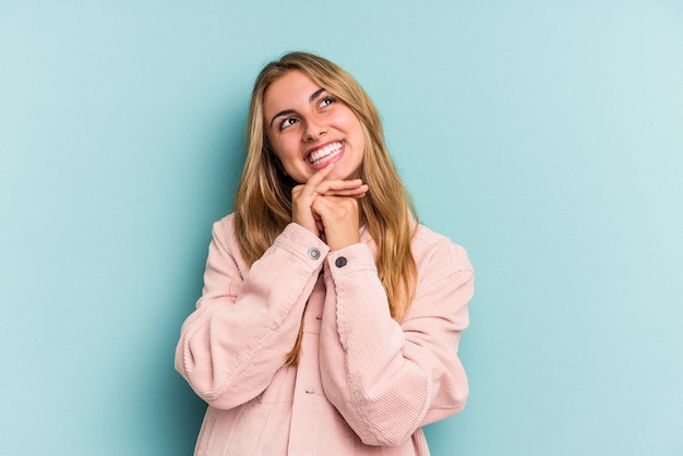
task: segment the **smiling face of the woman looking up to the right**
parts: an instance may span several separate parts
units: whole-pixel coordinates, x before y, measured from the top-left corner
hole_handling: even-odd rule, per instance
[[[334,163],[327,179],[360,177],[366,140],[360,121],[342,100],[298,70],[273,82],[263,97],[266,136],[285,168],[304,183]]]

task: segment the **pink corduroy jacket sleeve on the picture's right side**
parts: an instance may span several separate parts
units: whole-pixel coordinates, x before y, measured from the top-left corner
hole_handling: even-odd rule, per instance
[[[325,265],[335,297],[325,302],[321,328],[323,387],[369,445],[405,442],[460,411],[469,393],[457,356],[474,292],[467,254],[444,238],[418,260],[418,271],[415,300],[398,324],[366,244],[332,252]]]

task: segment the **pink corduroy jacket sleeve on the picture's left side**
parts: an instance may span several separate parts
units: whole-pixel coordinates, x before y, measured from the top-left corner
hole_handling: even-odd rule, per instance
[[[214,225],[202,298],[176,348],[176,369],[200,397],[229,409],[267,387],[297,339],[327,252],[324,242],[290,224],[245,271],[232,218]]]

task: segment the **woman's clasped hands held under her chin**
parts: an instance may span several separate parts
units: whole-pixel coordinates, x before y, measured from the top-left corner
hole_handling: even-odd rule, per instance
[[[331,250],[360,242],[358,200],[368,192],[360,179],[325,179],[334,165],[314,173],[291,191],[292,220],[315,236],[325,235]]]

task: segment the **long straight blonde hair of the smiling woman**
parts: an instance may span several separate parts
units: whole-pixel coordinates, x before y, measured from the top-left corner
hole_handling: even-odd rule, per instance
[[[242,256],[249,264],[259,260],[291,221],[291,189],[298,183],[283,171],[267,142],[263,98],[274,81],[293,70],[303,72],[344,101],[360,120],[366,140],[360,178],[370,191],[359,205],[378,247],[375,264],[392,317],[400,322],[410,307],[417,281],[410,250],[415,211],[386,148],[372,100],[349,73],[322,57],[287,53],[266,64],[254,83],[247,123],[247,159],[235,199],[235,225]],[[300,341],[301,332],[287,353],[287,364],[297,363]]]

